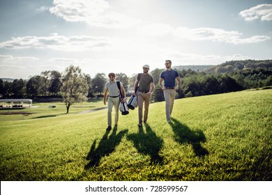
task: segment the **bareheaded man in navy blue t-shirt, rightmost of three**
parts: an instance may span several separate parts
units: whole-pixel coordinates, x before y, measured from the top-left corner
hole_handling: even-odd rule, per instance
[[[163,95],[165,96],[165,113],[167,123],[170,123],[170,116],[174,106],[176,91],[179,89],[179,86],[181,86],[181,78],[179,77],[179,72],[173,70],[171,65],[171,61],[165,61],[166,70],[160,74],[159,81],[160,88],[163,89]],[[176,80],[178,81],[177,85]]]

